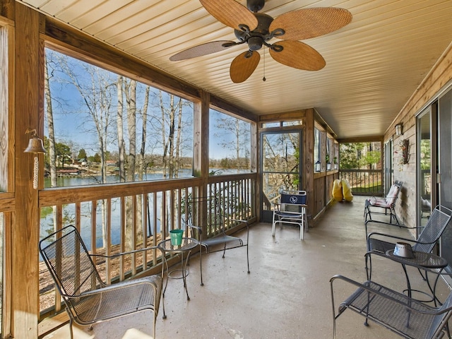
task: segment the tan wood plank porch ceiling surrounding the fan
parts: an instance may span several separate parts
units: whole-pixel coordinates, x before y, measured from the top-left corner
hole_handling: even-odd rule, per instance
[[[245,44],[169,61],[197,44],[237,41],[198,0],[21,2],[255,114],[314,107],[338,138],[383,135],[452,40],[450,0],[267,0],[261,12],[273,18],[328,6],[346,8],[353,18],[340,30],[303,41],[326,60],[320,71],[279,64],[265,48],[253,75],[237,84],[229,67]]]

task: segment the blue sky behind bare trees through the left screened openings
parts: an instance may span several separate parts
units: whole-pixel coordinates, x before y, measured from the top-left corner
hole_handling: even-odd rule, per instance
[[[117,151],[117,124],[116,124],[116,112],[117,112],[117,88],[116,85],[112,85],[117,81],[117,75],[104,71],[95,66],[86,64],[83,61],[78,61],[71,57],[64,56],[58,52],[47,49],[47,61],[49,64],[49,83],[52,95],[52,111],[54,117],[54,131],[56,141],[59,143],[65,143],[70,145],[74,153],[78,153],[81,148],[85,149],[88,156],[98,153],[97,132],[95,131],[95,124],[93,122],[93,116],[97,117],[99,121],[106,121],[102,112],[109,111],[109,122],[107,131],[111,133],[107,141],[107,149],[111,152]],[[69,71],[63,71],[64,66],[67,65]],[[73,78],[67,74],[72,72]],[[94,79],[94,80],[93,80]],[[110,105],[109,109],[99,109],[98,103],[102,93],[97,90],[93,90],[93,83],[98,87],[99,84],[105,85],[105,88],[109,90],[102,91],[103,97],[105,93],[109,93],[111,98],[105,100]],[[76,87],[76,85],[78,87]],[[80,88],[78,90],[77,88]],[[137,108],[141,112],[143,107],[144,97],[143,84],[137,86]],[[84,96],[81,93],[89,93]],[[148,106],[148,134],[147,134],[147,149],[146,153],[150,154],[162,154],[162,111],[160,109],[160,100],[158,96],[158,90],[151,89],[150,105]],[[169,107],[169,95],[164,93],[163,95],[165,107]],[[85,99],[84,99],[85,98]],[[94,100],[96,98],[96,100]],[[94,105],[93,102],[86,105],[86,101],[93,100],[97,102]],[[125,100],[124,100],[125,101]],[[187,105],[184,105],[182,120],[183,129],[182,135],[186,143],[186,149],[183,156],[191,157],[191,150],[193,148],[193,104],[186,101]],[[96,109],[93,109],[96,107]],[[105,107],[105,106],[104,106]],[[92,112],[93,114],[90,114]],[[137,113],[137,132],[141,131],[141,118]],[[154,114],[152,114],[154,112]],[[125,114],[124,114],[125,115]],[[102,117],[102,119],[101,119]],[[232,133],[231,126],[235,126],[235,118],[210,110],[210,158],[221,159],[223,157],[236,157],[235,152],[235,137]],[[124,119],[124,138],[128,136],[126,129],[126,119]],[[218,126],[225,126],[224,129],[219,129]],[[48,136],[47,119],[44,124],[44,134]],[[243,132],[240,133],[240,138],[243,138]],[[137,152],[141,143],[141,134],[137,134]],[[126,141],[126,144],[128,141]],[[184,152],[184,151],[183,151]],[[245,154],[242,152],[241,156]],[[249,151],[248,151],[249,154]]]

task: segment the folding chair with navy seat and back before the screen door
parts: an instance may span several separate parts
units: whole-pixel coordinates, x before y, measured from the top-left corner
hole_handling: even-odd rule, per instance
[[[304,231],[308,232],[306,220],[306,191],[281,191],[280,202],[273,209],[272,236],[275,237],[276,224],[299,226],[299,239],[303,240]]]

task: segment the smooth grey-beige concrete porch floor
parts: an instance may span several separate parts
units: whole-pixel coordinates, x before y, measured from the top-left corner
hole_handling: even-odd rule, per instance
[[[345,275],[359,282],[366,278],[364,254],[365,197],[352,203],[335,203],[320,222],[299,240],[299,229],[252,225],[249,239],[251,273],[246,273],[246,248],[203,256],[200,285],[199,256],[191,258],[187,277],[190,300],[182,280],[169,280],[165,293],[167,319],[162,305],[157,317],[157,338],[333,338],[330,278]],[[410,237],[398,227],[374,224],[372,230]],[[394,290],[406,287],[400,264],[374,256],[372,280]],[[412,285],[425,288],[419,273],[410,272]],[[440,299],[447,295],[441,281]],[[418,287],[419,285],[419,287]],[[350,295],[350,286],[337,285],[336,304]],[[336,305],[337,308],[337,305]],[[98,323],[93,331],[74,326],[76,339],[150,339],[152,312]],[[376,323],[363,325],[364,318],[346,311],[337,321],[337,338],[400,338]],[[69,338],[69,326],[44,337]]]

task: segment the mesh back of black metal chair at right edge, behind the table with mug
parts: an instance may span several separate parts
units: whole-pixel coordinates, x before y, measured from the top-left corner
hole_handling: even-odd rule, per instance
[[[412,249],[430,253],[451,221],[451,216],[452,210],[444,206],[436,206]]]

